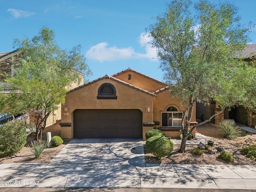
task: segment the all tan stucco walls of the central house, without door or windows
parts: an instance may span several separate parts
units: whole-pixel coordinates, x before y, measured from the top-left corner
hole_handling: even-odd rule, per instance
[[[98,89],[104,83],[110,83],[115,87],[117,99],[97,99]],[[62,126],[61,136],[73,138],[73,113],[76,109],[138,109],[142,112],[143,123],[160,122],[159,126],[154,126],[158,128],[161,126],[161,113],[166,112],[169,106],[175,106],[178,112],[184,111],[184,108],[180,107],[180,99],[172,98],[169,89],[162,82],[129,68],[71,90],[62,106],[62,124],[71,126]],[[192,119],[195,121],[195,113]],[[145,133],[152,129],[153,125],[143,125],[141,138],[146,139]],[[180,134],[179,131],[165,133],[166,136],[172,137],[178,137]]]

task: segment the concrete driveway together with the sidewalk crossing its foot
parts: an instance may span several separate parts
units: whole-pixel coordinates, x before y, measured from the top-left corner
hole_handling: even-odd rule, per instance
[[[0,187],[256,189],[256,166],[145,164],[142,140],[72,140],[46,164],[0,164]]]

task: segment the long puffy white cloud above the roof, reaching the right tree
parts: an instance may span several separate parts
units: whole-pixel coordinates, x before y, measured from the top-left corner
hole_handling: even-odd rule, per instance
[[[140,34],[139,38],[140,46],[144,47],[145,53],[137,53],[134,48],[117,48],[116,46],[108,47],[107,42],[98,43],[92,46],[86,52],[86,58],[92,60],[115,61],[125,60],[130,58],[150,58],[151,60],[157,60],[156,49],[150,47],[150,37],[146,33]]]

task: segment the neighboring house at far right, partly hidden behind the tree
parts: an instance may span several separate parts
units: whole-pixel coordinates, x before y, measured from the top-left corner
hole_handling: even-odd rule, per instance
[[[256,44],[248,44],[242,52],[236,53],[235,58],[243,58],[244,61],[256,62]],[[218,103],[211,102],[209,106],[204,106],[201,103],[196,104],[196,118],[206,120],[213,114],[220,111]],[[242,123],[248,126],[256,125],[256,113],[246,110],[242,106],[235,106],[230,111],[225,109],[223,113],[212,119],[211,122],[218,124],[224,119],[233,119],[237,123]]]

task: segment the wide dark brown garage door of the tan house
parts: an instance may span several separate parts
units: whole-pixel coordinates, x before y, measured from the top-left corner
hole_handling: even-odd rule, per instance
[[[74,138],[142,138],[140,110],[74,111]]]

